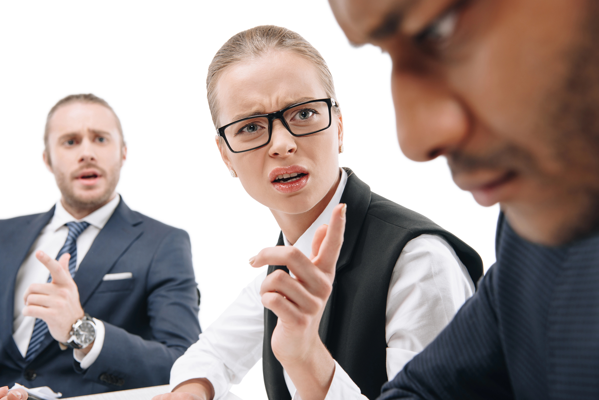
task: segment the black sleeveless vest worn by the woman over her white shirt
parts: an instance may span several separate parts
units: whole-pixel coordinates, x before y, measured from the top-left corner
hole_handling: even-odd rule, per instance
[[[370,191],[352,170],[341,203],[347,204],[343,247],[335,281],[320,320],[319,335],[332,357],[369,399],[380,395],[387,381],[385,310],[391,274],[404,246],[422,234],[441,235],[464,263],[476,284],[482,260],[470,246],[426,217]],[[283,235],[277,246],[283,246]],[[285,266],[269,265],[268,274]],[[270,400],[291,400],[283,366],[273,354],[271,337],[277,325],[273,311],[264,309],[262,369]]]

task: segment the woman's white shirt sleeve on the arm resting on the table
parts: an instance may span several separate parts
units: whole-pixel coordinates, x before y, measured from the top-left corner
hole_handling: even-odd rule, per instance
[[[226,395],[262,357],[264,306],[260,296],[267,271],[246,286],[199,340],[179,357],[171,369],[170,390],[180,383],[207,378],[214,399]]]

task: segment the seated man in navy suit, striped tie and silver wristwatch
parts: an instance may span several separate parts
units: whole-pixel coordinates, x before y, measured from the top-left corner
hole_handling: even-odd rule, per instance
[[[200,332],[189,236],[116,193],[126,147],[104,100],[60,100],[44,142],[62,197],[0,220],[0,383],[65,398],[167,384]]]

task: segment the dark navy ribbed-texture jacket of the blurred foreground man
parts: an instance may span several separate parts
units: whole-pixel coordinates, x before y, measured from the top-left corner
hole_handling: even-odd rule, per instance
[[[599,235],[562,247],[500,217],[497,263],[379,399],[599,397]]]

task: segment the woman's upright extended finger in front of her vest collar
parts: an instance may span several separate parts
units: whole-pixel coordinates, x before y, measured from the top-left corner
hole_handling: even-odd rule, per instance
[[[339,258],[339,252],[343,245],[343,234],[345,232],[347,204],[338,204],[334,209],[329,222],[328,228],[326,228],[325,238],[320,244],[318,254],[312,262],[323,272],[333,274],[335,272],[335,266],[337,265],[337,259]]]

